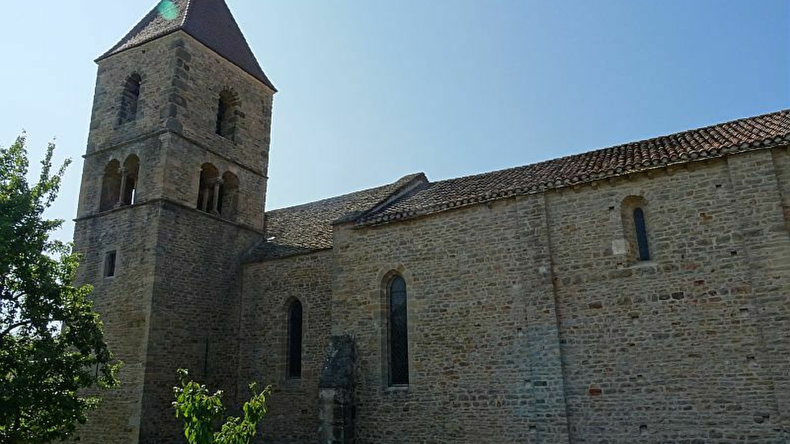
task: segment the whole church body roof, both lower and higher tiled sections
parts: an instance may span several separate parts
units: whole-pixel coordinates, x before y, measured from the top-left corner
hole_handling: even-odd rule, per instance
[[[423,173],[337,198],[266,213],[267,238],[248,261],[332,248],[333,224],[387,224],[517,194],[540,193],[790,141],[790,110],[706,126],[538,164],[428,182]]]

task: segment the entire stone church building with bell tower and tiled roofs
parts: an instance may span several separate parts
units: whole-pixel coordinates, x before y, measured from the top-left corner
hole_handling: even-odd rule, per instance
[[[125,365],[81,442],[186,442],[179,367],[272,384],[273,444],[790,442],[790,110],[267,212],[224,0],[97,62],[77,280]]]

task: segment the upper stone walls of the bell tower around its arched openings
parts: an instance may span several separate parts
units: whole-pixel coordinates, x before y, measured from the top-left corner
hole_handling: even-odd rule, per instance
[[[142,77],[137,119],[119,125],[123,87],[132,73]],[[234,141],[215,134],[216,108],[224,89],[239,98]],[[167,152],[167,164],[156,169],[141,158],[141,171],[145,168],[156,178],[148,198],[196,206],[201,165],[212,163],[220,175],[230,171],[239,178],[239,213],[234,219],[261,230],[272,100],[268,87],[180,31],[100,61],[83,172],[88,186],[83,186],[86,195],[78,213],[98,209],[94,190],[100,190],[97,185],[107,164],[100,162],[109,161],[126,145],[148,145]],[[163,133],[171,135],[170,142],[157,145]],[[161,152],[153,155],[159,155],[152,159],[156,162],[165,160]]]

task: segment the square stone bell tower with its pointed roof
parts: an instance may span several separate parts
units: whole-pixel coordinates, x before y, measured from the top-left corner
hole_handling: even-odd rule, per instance
[[[235,398],[240,262],[264,237],[276,89],[224,0],[163,0],[96,62],[77,281],[124,366],[80,437],[176,442],[177,368]]]

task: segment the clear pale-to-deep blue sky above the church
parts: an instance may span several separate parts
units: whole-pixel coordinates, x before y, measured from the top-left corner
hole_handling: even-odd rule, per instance
[[[274,99],[267,209],[790,107],[790,0],[227,0]],[[156,0],[4,2],[0,146],[74,160],[93,60]]]

